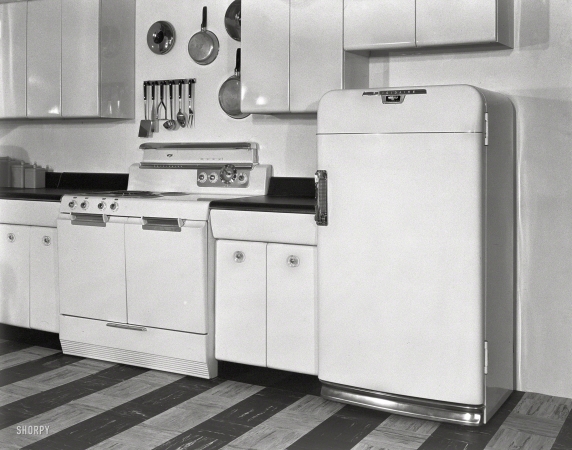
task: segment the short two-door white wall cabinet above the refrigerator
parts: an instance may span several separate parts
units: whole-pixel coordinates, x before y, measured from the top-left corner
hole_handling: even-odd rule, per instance
[[[513,0],[344,0],[344,49],[513,46]]]

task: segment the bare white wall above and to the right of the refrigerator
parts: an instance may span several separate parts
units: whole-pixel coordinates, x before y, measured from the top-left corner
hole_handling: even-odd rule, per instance
[[[572,4],[515,0],[514,50],[371,59],[370,85],[466,83],[517,115],[519,389],[572,397]]]

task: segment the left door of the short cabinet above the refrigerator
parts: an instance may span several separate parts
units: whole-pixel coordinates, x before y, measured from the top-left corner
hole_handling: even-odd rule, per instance
[[[415,47],[415,0],[344,0],[346,50],[409,47]]]

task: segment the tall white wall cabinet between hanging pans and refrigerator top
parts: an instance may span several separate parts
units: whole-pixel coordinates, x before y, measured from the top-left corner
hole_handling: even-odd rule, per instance
[[[343,0],[242,0],[241,30],[242,112],[316,112],[369,85],[367,57],[343,49]]]

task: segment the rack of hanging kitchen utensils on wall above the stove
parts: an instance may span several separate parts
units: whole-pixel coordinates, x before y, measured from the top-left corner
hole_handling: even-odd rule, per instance
[[[195,84],[196,78],[173,78],[167,80],[145,80],[143,88],[146,94],[145,108],[148,117],[154,122],[153,131],[160,130],[160,121],[176,120],[170,114],[171,107],[175,111],[182,113],[185,117],[185,126],[171,128],[170,131],[194,125],[195,118]],[[173,97],[170,97],[172,87]],[[162,98],[161,98],[162,96]],[[179,100],[180,96],[180,100]],[[173,105],[173,106],[171,106]]]

